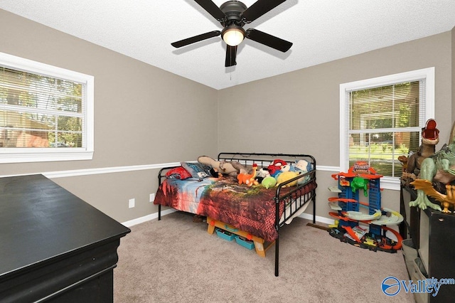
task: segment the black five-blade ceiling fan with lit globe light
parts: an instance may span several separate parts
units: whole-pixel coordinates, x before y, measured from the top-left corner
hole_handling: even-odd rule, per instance
[[[289,41],[269,35],[263,31],[258,31],[255,28],[248,28],[246,31],[243,29],[245,24],[255,21],[257,18],[279,6],[279,4],[282,4],[286,0],[257,0],[248,8],[240,1],[227,1],[221,4],[220,7],[216,6],[211,0],[195,1],[202,6],[208,14],[220,21],[223,30],[209,31],[208,33],[171,43],[171,46],[175,48],[181,48],[182,46],[188,46],[189,44],[221,35],[221,38],[223,38],[223,41],[226,43],[225,67],[228,67],[237,65],[235,62],[237,46],[242,43],[244,38],[249,38],[252,41],[280,50],[283,53],[287,52],[292,46],[292,43]]]

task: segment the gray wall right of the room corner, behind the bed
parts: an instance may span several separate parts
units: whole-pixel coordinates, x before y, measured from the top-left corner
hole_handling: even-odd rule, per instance
[[[332,166],[317,176],[316,215],[327,217],[327,188],[336,185],[331,170],[340,165],[339,85],[434,66],[441,147],[454,111],[452,55],[452,33],[446,32],[220,90],[218,150],[315,155],[319,166]],[[399,201],[398,191],[382,192],[383,206],[399,211]]]

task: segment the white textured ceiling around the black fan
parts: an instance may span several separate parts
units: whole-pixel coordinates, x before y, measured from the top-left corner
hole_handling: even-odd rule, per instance
[[[214,0],[220,6],[225,0]],[[248,7],[255,0],[243,0]],[[294,45],[282,53],[245,39],[225,68],[220,36],[172,42],[222,26],[192,0],[0,0],[0,9],[43,23],[215,89],[272,77],[450,31],[454,0],[287,0],[244,28]],[[5,28],[2,28],[4,31]]]

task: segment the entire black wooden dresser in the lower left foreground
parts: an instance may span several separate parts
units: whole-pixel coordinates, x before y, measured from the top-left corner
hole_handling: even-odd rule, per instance
[[[45,176],[0,178],[0,302],[112,302],[130,231]]]

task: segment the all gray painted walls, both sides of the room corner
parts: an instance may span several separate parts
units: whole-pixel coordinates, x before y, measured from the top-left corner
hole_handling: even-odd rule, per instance
[[[441,142],[455,117],[454,33],[402,43],[273,78],[213,90],[138,60],[0,10],[0,52],[95,76],[95,155],[91,161],[0,164],[0,176],[196,159],[219,151],[316,156],[318,210],[328,217],[328,186],[339,166],[339,85],[419,68],[436,68]],[[156,212],[157,169],[53,179],[124,222]],[[128,208],[128,199],[136,207]],[[382,205],[396,210],[397,191]],[[311,213],[311,210],[309,211]]]

